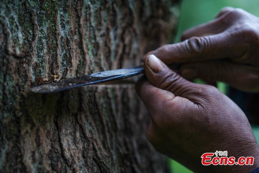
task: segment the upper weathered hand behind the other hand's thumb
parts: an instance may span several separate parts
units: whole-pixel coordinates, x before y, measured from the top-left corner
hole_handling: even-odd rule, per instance
[[[188,29],[183,42],[151,51],[166,64],[186,63],[187,79],[224,81],[241,91],[259,92],[259,18],[225,7],[206,24]]]

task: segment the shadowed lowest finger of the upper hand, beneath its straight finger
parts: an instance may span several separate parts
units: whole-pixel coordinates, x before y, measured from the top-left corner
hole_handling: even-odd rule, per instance
[[[184,78],[201,78],[207,82],[222,81],[241,91],[256,91],[259,86],[259,69],[230,61],[205,61],[181,66]]]

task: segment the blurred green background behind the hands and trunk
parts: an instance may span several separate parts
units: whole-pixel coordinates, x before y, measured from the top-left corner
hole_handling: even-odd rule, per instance
[[[226,6],[242,8],[255,16],[259,16],[258,0],[182,0],[176,42],[180,42],[184,30],[212,20],[220,9]],[[218,82],[217,86],[221,92],[226,93],[226,84]],[[252,128],[256,140],[259,142],[259,126],[253,125]],[[192,172],[174,160],[169,159],[169,163],[174,173]]]

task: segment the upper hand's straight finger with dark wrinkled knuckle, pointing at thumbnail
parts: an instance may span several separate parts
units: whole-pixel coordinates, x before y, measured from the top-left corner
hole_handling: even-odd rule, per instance
[[[192,37],[184,42],[162,46],[153,53],[166,64],[240,57],[248,44],[240,42],[235,34],[225,31],[216,35]]]

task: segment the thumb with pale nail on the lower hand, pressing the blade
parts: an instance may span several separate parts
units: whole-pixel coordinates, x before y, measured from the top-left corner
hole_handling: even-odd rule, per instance
[[[186,90],[194,83],[182,78],[179,74],[172,71],[160,59],[151,54],[144,61],[145,74],[148,80],[157,88],[170,91],[176,96],[183,96]]]

